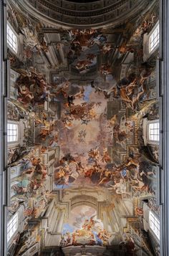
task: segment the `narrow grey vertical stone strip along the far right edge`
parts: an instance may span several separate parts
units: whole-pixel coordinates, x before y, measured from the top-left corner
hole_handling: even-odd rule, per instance
[[[160,255],[169,255],[169,1],[160,0]],[[163,113],[163,115],[162,115]]]

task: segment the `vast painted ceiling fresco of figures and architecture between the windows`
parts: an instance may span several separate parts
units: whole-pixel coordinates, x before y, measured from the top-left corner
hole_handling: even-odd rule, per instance
[[[19,53],[8,50],[7,117],[19,127],[8,148],[9,218],[22,212],[10,255],[35,245],[55,255],[78,256],[79,246],[90,246],[84,255],[159,255],[144,214],[145,205],[159,214],[159,148],[145,141],[145,123],[160,118],[158,52],[143,60],[158,4],[115,27],[62,29],[9,2],[20,42]]]

